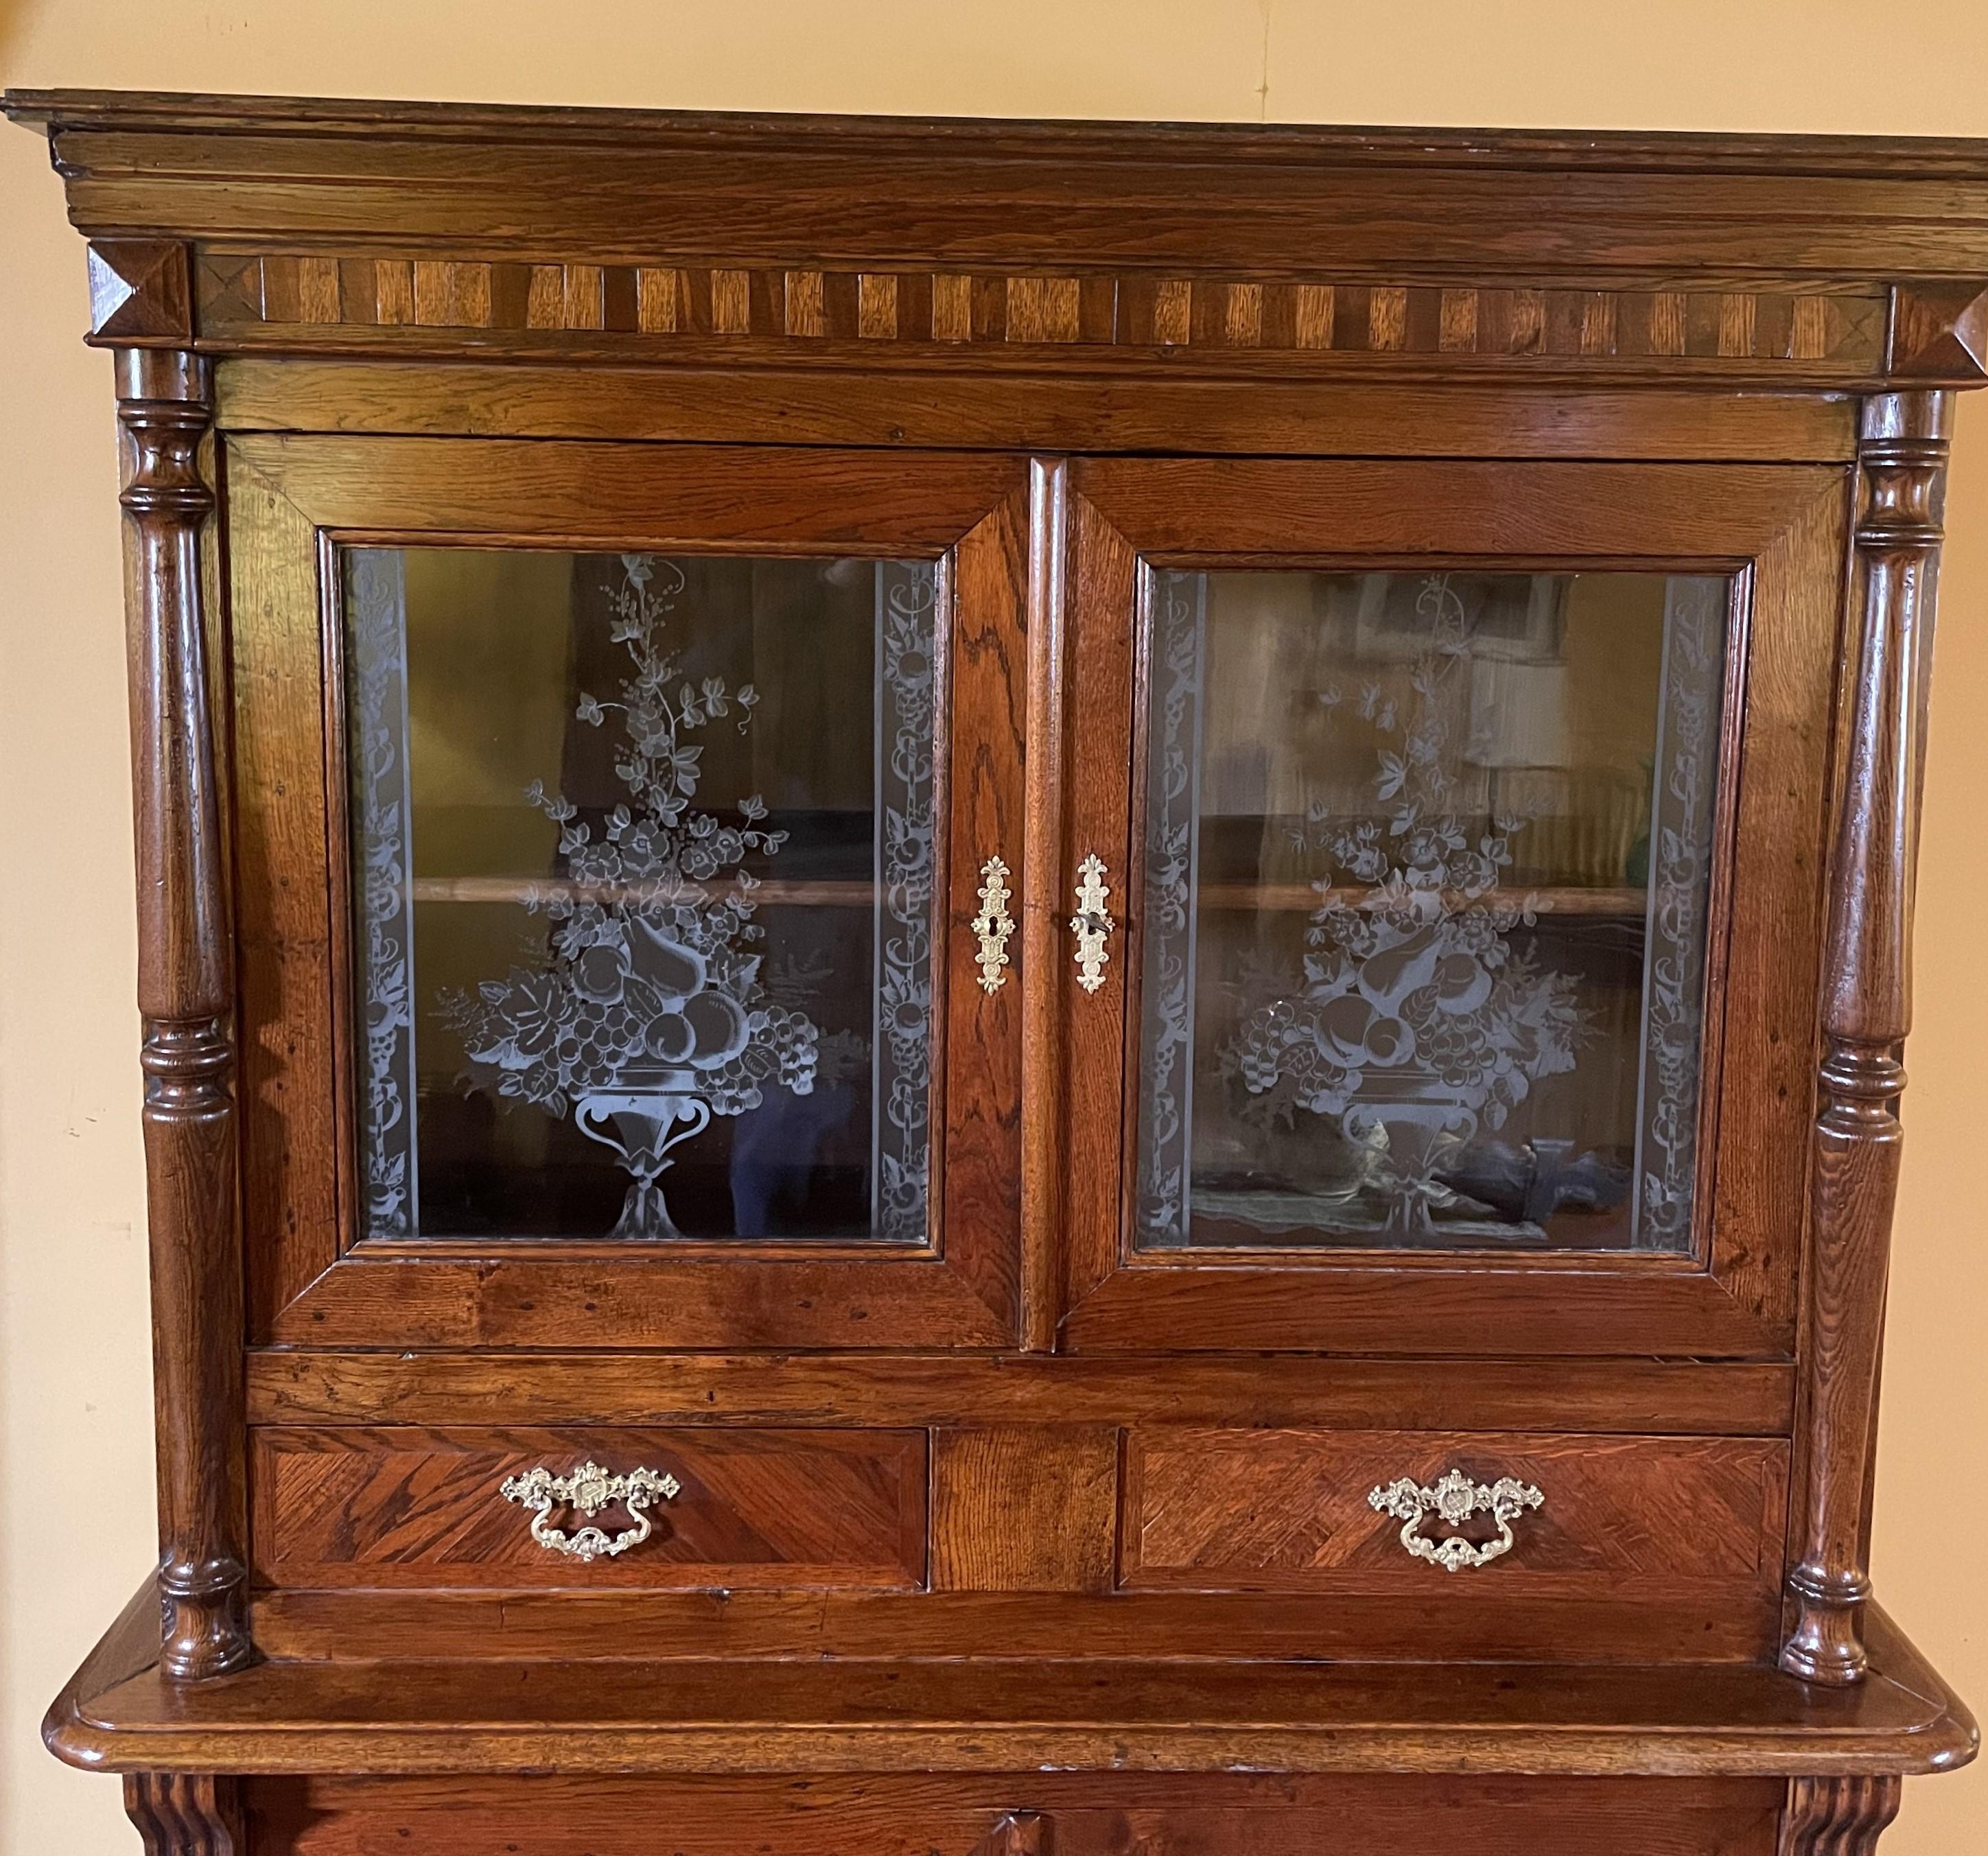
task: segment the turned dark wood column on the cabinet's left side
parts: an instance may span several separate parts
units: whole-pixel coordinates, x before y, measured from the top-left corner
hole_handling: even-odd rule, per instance
[[[243,1570],[235,974],[201,612],[207,362],[117,350],[163,1665],[252,1655]]]

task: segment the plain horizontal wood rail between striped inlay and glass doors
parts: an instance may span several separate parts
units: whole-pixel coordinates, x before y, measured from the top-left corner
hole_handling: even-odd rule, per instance
[[[225,431],[646,439],[769,445],[966,445],[1330,457],[1847,461],[1855,401],[1807,393],[1555,391],[1477,384],[956,374],[875,366],[571,368],[455,360],[225,356]]]

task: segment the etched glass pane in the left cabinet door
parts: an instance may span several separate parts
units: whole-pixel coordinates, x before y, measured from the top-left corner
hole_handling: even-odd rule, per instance
[[[934,568],[342,562],[362,1232],[924,1242]]]

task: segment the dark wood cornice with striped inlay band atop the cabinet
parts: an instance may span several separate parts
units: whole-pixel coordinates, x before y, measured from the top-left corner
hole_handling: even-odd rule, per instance
[[[6,107],[95,240],[105,344],[185,340],[191,312],[213,354],[1988,378],[1980,141]],[[189,310],[185,258],[131,256],[171,250]]]

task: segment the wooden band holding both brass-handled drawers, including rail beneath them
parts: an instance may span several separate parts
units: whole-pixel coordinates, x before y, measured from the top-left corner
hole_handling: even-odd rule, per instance
[[[620,1592],[642,1606],[588,1641],[626,1655],[1730,1663],[1777,1649],[1787,1461],[1557,1431],[270,1425],[248,1490],[276,1655],[354,1653],[390,1598],[396,1637],[477,1655],[461,1600]],[[724,1594],[724,1627],[672,1594]],[[306,1645],[324,1606],[280,1604],[306,1596],[358,1610]]]

